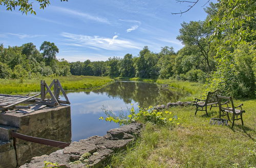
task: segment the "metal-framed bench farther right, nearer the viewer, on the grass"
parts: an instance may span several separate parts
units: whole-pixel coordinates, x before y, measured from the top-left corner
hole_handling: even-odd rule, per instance
[[[242,115],[243,115],[243,113],[245,113],[245,110],[242,109],[243,104],[240,104],[239,106],[234,106],[232,97],[216,96],[216,98],[218,100],[218,104],[219,104],[219,108],[220,108],[220,118],[221,118],[221,116],[227,116],[228,120],[230,121],[228,113],[231,113],[231,114],[233,114],[233,116],[232,116],[233,123],[232,123],[231,128],[233,128],[233,126],[234,126],[234,120],[241,120],[242,125],[244,125]],[[223,101],[225,101],[225,102],[222,103]],[[231,103],[231,107],[228,106],[228,103]],[[226,104],[226,107],[223,107],[224,104]],[[236,109],[238,107],[240,107],[240,109]],[[238,118],[238,116],[240,116],[240,118]],[[236,119],[235,119],[235,117],[236,117]]]

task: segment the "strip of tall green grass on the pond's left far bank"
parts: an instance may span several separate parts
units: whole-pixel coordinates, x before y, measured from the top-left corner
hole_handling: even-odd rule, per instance
[[[113,79],[97,76],[59,76],[33,79],[0,79],[1,94],[25,94],[40,91],[40,80],[45,80],[48,85],[53,79],[58,79],[64,90],[79,90],[100,87],[106,85]]]

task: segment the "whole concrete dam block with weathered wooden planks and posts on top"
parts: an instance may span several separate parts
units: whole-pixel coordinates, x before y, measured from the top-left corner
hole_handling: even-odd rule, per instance
[[[65,100],[60,100],[62,93]],[[0,168],[17,167],[71,142],[70,101],[58,79],[32,96],[0,94]],[[44,145],[41,145],[44,144]]]

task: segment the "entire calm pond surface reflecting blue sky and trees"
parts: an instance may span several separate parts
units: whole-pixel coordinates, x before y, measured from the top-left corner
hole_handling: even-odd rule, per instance
[[[138,106],[175,102],[184,96],[177,90],[170,91],[155,83],[138,81],[117,81],[101,89],[66,93],[71,102],[72,141],[102,136],[106,131],[119,127],[113,122],[99,121],[99,117],[106,117],[102,108],[118,114],[120,110],[125,112],[131,108],[131,104],[136,109]]]

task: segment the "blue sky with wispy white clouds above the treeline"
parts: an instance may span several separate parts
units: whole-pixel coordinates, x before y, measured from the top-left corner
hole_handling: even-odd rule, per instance
[[[199,1],[182,15],[189,4],[175,0],[52,0],[45,10],[34,3],[36,15],[6,11],[0,7],[0,43],[22,45],[32,42],[39,49],[44,41],[59,48],[57,58],[69,62],[105,61],[109,57],[138,55],[143,46],[159,52],[163,46],[175,51],[183,47],[176,39],[183,21],[204,20],[206,13]]]

